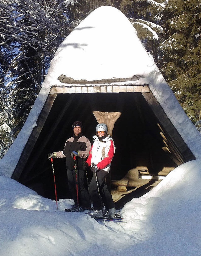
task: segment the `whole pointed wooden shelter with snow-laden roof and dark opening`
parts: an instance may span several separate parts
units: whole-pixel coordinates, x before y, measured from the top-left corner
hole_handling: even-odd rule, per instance
[[[76,120],[83,122],[84,135],[92,140],[94,111],[121,112],[113,129],[113,180],[123,179],[130,170],[165,176],[198,156],[193,141],[200,145],[200,134],[133,26],[120,11],[105,6],[92,12],[58,48],[27,122],[0,162],[5,170],[10,161],[4,174],[53,198],[47,154],[62,150]],[[59,198],[68,197],[65,163],[55,159],[54,164]]]

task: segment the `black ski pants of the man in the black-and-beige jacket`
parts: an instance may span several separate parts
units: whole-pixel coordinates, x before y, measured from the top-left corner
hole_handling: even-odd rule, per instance
[[[69,191],[71,193],[72,199],[74,200],[74,203],[76,205],[78,205],[75,169],[74,170],[69,170],[68,169],[67,170],[67,176],[68,176],[68,188],[69,188]],[[85,207],[85,208],[91,208],[89,192],[84,187],[85,171],[78,170],[77,171],[77,177],[78,177],[79,206]]]

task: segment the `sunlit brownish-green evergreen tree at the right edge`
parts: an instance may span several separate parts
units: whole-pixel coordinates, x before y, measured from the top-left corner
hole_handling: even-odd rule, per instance
[[[200,1],[170,0],[162,22],[160,70],[188,117],[196,122],[201,111]]]

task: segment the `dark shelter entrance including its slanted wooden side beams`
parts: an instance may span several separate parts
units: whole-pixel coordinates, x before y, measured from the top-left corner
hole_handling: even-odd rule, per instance
[[[93,111],[122,113],[113,129],[116,152],[111,180],[129,179],[132,170],[140,175],[144,171],[144,175],[164,176],[181,163],[195,159],[150,91],[69,94],[59,90],[65,88],[53,88],[49,94],[12,176],[40,195],[54,199],[52,166],[47,155],[63,149],[66,139],[72,136],[74,121],[83,122],[84,135],[93,143],[97,125]],[[54,159],[54,169],[58,198],[69,198],[65,159]],[[134,185],[133,180],[129,182]]]

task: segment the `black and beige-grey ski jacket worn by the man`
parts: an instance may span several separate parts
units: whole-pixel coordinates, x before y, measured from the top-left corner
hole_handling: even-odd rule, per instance
[[[63,151],[58,151],[56,153],[57,158],[66,157],[66,168],[74,169],[74,160],[71,157],[72,151],[79,151],[79,156],[76,157],[78,170],[83,170],[83,161],[89,156],[89,151],[91,149],[91,143],[83,134],[79,134],[67,139]]]

